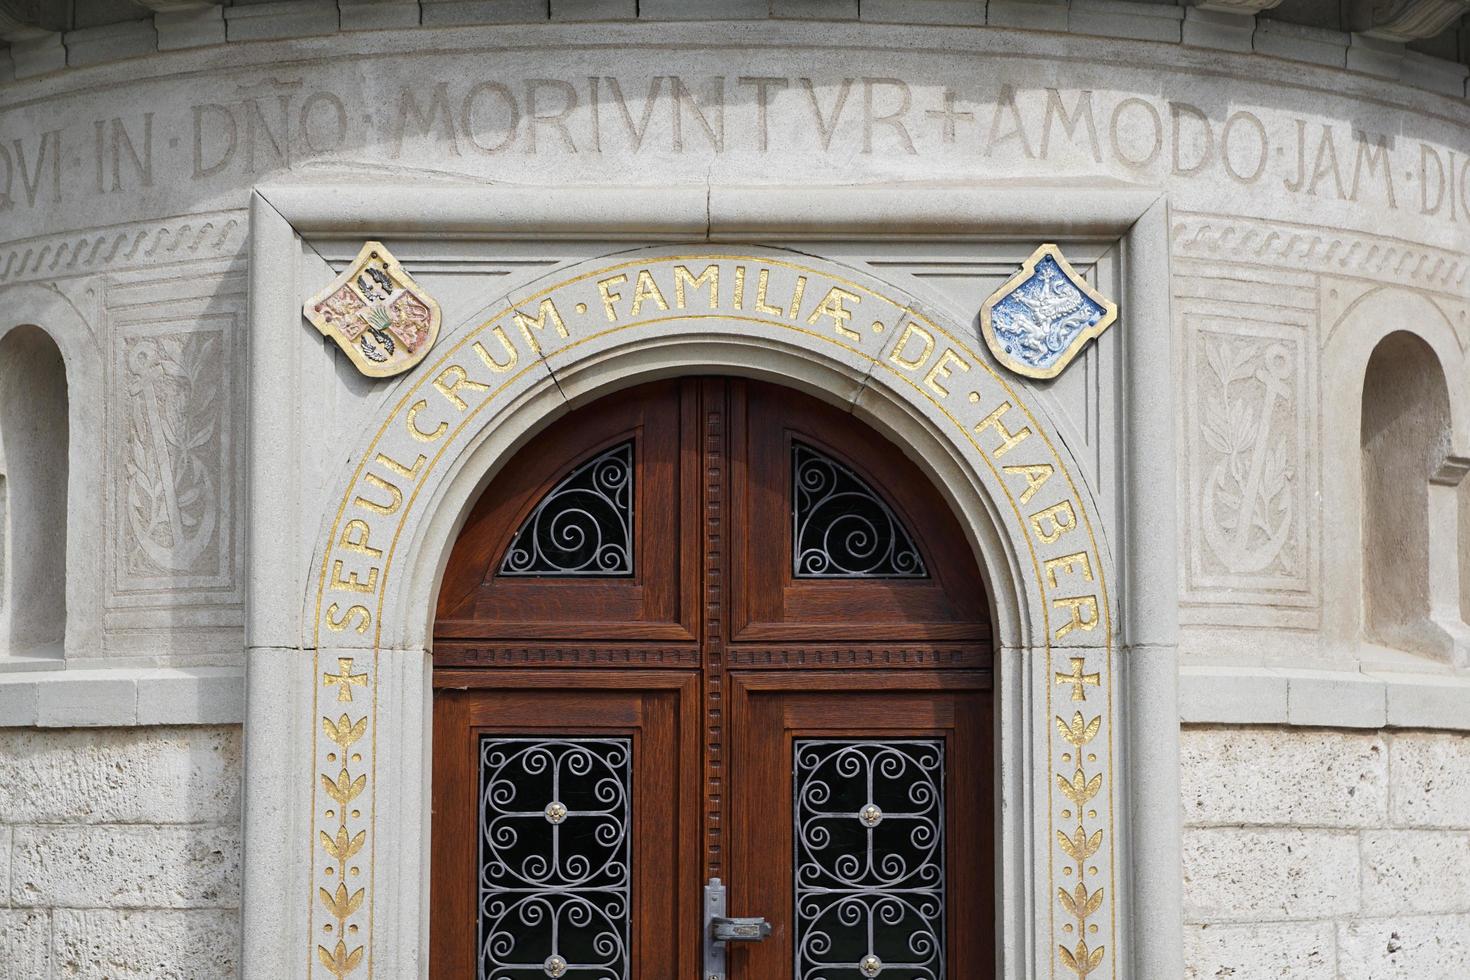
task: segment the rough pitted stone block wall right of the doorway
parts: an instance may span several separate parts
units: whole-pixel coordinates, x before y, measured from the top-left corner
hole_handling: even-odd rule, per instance
[[[1186,726],[1186,980],[1460,980],[1470,735]]]

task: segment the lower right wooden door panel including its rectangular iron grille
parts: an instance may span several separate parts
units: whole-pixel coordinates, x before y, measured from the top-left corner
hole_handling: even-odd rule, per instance
[[[732,674],[731,907],[773,929],[731,980],[994,974],[988,688]]]

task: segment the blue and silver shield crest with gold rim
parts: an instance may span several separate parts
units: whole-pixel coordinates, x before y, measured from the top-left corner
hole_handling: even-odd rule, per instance
[[[980,307],[980,332],[995,359],[1026,378],[1055,378],[1088,341],[1117,319],[1117,304],[1078,275],[1053,244]]]

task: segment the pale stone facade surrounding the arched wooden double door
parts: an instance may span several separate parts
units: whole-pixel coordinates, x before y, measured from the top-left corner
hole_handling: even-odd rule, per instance
[[[351,934],[381,976],[415,976],[425,623],[462,505],[569,404],[714,369],[845,404],[973,530],[1013,698],[1003,905],[1053,909],[1003,914],[1001,976],[1079,976],[1048,877],[1058,829],[1036,814],[1072,779],[1048,760],[1080,758],[1069,736],[1104,713],[1119,911],[1089,976],[1464,974],[1470,69],[1439,24],[1452,4],[1332,24],[1291,0],[25,6],[0,0],[0,980],[360,980],[320,932],[329,804],[312,796],[359,720],[348,786],[372,777],[365,854],[382,857]],[[368,238],[444,310],[400,379],[362,378],[300,317]],[[1055,382],[1005,373],[976,326],[1042,241],[1122,310]],[[879,328],[929,317],[972,378],[1010,385],[1075,476],[1107,630],[1045,660],[1057,582],[1016,569],[1050,542],[997,517],[1016,457],[997,463],[1000,429],[945,436],[988,417],[967,388],[945,401],[932,376],[883,373],[897,329],[839,350],[841,331],[797,339],[779,316],[609,339],[594,298],[572,338],[542,319],[526,373],[432,476],[440,457],[412,464],[425,429],[375,441],[409,392],[429,432],[459,426],[441,357],[528,295],[572,303],[576,275],[694,248],[860,281],[889,303]],[[28,435],[60,403],[66,445]],[[391,570],[353,566],[366,552],[334,525],[362,475],[373,501],[409,491]],[[63,527],[65,561],[28,561]],[[334,557],[384,583],[372,601],[332,591]],[[1080,727],[1048,676],[1067,670],[1105,695]],[[359,699],[328,673],[363,679],[344,688]]]

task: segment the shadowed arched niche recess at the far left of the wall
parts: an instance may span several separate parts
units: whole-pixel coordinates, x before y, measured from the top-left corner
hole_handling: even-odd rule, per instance
[[[0,648],[60,655],[66,639],[66,363],[24,325],[0,338]]]

